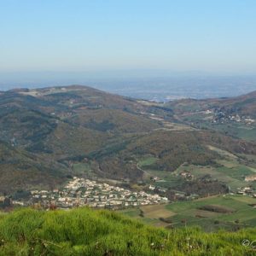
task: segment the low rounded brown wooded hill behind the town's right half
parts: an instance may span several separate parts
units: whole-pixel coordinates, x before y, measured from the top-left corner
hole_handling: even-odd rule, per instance
[[[216,165],[224,156],[209,146],[221,148],[233,154],[256,154],[256,144],[248,143],[210,131],[153,131],[136,137],[115,148],[102,148],[86,155],[97,160],[97,170],[103,177],[143,178],[137,163],[145,157],[154,158],[147,168],[173,172],[184,163],[189,165]]]

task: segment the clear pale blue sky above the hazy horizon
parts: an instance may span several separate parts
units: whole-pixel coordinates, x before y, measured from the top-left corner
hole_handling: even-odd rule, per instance
[[[0,73],[256,73],[255,0],[0,0]]]

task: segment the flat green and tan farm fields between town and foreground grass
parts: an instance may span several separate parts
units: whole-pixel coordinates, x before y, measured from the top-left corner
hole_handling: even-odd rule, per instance
[[[154,205],[148,209],[145,207],[126,209],[122,213],[156,226],[177,228],[196,225],[211,232],[219,229],[237,230],[243,227],[255,227],[256,208],[249,204],[256,204],[256,199],[242,195],[217,195],[195,201],[173,202],[164,209],[163,206]],[[200,209],[209,205],[232,209],[233,212],[220,213]],[[166,210],[170,211],[169,216]],[[166,218],[166,222],[160,218]]]

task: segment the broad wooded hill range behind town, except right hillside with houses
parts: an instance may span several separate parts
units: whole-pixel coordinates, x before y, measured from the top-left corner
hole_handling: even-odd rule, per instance
[[[17,159],[14,164],[0,162],[0,182],[12,185],[2,190],[49,188],[70,174],[89,175],[88,168],[97,177],[136,183],[145,177],[139,163],[147,157],[154,158],[148,168],[156,171],[174,172],[184,163],[214,166],[223,156],[209,146],[254,155],[255,143],[201,130],[195,120],[191,127],[187,120],[197,116],[194,111],[201,114],[218,104],[223,108],[241,102],[251,109],[253,96],[162,105],[79,85],[1,92],[1,147],[9,159],[12,154]],[[199,115],[198,122],[202,120]],[[78,171],[76,164],[86,168]]]

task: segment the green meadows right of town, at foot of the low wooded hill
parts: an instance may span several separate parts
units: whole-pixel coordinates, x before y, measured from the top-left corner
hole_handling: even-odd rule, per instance
[[[209,146],[209,148],[223,157],[222,160],[215,160],[215,166],[195,166],[183,164],[174,172],[151,170],[149,167],[151,163],[156,160],[153,157],[148,157],[139,161],[138,165],[143,168],[144,172],[148,174],[148,177],[157,176],[160,178],[159,182],[154,183],[155,185],[170,189],[176,189],[178,185],[183,183],[184,180],[179,176],[179,174],[183,171],[190,172],[195,179],[209,175],[212,177],[212,179],[218,179],[219,182],[227,184],[234,192],[236,192],[237,188],[240,187],[255,187],[255,183],[245,181],[245,177],[256,174],[255,155],[235,155],[220,148],[215,148],[212,146]]]

